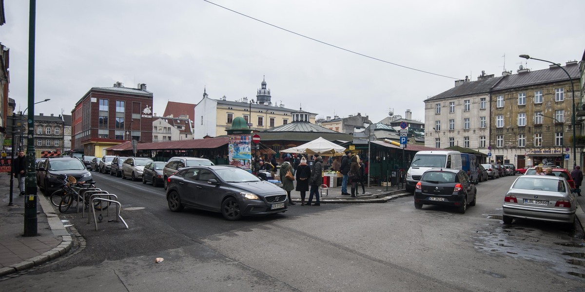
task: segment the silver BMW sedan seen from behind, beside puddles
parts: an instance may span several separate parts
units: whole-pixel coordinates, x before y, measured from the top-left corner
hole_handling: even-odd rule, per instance
[[[576,199],[565,178],[549,175],[519,176],[504,197],[504,224],[514,218],[572,224]]]

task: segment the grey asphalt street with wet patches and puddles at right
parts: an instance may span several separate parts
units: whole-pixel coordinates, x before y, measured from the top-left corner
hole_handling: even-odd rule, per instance
[[[517,176],[477,185],[477,205],[388,203],[289,206],[226,221],[168,210],[162,187],[92,172],[118,195],[128,223],[87,224],[66,256],[0,282],[3,291],[584,291],[585,249],[571,228],[503,225],[503,194]],[[72,211],[73,210],[73,211]],[[164,258],[155,263],[156,258]]]

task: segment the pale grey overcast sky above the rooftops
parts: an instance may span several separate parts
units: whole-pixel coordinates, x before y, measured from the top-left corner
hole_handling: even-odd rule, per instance
[[[28,2],[4,0],[0,26],[17,110],[27,107]],[[35,100],[51,100],[35,114],[71,114],[92,87],[119,81],[147,84],[161,115],[204,88],[255,99],[265,76],[273,105],[374,123],[409,109],[424,122],[423,101],[455,79],[548,68],[519,54],[564,65],[585,50],[583,0],[211,2],[38,0]]]

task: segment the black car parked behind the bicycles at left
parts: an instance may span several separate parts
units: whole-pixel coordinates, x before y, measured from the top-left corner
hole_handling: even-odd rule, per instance
[[[94,183],[91,172],[75,157],[50,157],[37,168],[37,185],[49,195],[63,186],[63,175],[73,176],[78,182]]]

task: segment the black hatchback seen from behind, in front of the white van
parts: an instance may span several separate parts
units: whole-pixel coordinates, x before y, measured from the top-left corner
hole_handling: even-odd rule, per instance
[[[455,206],[465,213],[467,205],[475,206],[477,189],[461,169],[429,169],[421,176],[414,190],[414,207],[424,204]]]

